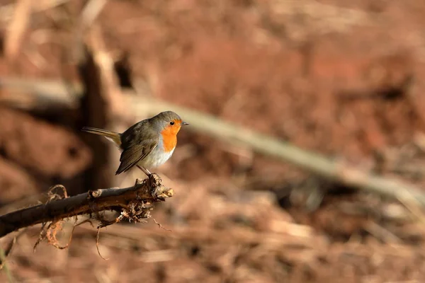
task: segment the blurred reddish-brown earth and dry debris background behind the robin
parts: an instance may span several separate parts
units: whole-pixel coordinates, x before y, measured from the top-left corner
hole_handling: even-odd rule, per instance
[[[183,120],[196,110],[425,184],[424,1],[0,4],[1,214],[44,201],[55,184],[77,195],[144,178],[115,176],[119,151],[80,129],[123,132],[161,103]],[[176,194],[147,223],[101,230],[108,260],[89,224],[69,248],[43,242],[33,253],[35,226],[0,281],[424,282],[420,211],[209,127],[184,127],[154,170]],[[73,223],[58,234],[62,246]]]

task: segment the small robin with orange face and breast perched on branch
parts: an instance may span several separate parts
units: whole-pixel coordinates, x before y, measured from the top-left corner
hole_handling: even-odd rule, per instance
[[[177,133],[185,125],[188,123],[175,112],[165,111],[137,122],[122,134],[93,127],[82,130],[106,137],[120,148],[120,166],[115,175],[137,166],[149,177],[152,173],[147,168],[161,166],[169,160],[176,149]]]

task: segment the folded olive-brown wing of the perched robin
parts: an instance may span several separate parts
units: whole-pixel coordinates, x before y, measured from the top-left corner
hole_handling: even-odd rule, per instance
[[[145,134],[143,141],[135,138],[134,136],[124,140],[121,145],[123,152],[120,157],[120,166],[115,172],[115,175],[129,171],[130,168],[139,163],[139,161],[145,158],[155,147],[158,146],[158,141],[159,138],[156,134],[151,134],[149,137]]]

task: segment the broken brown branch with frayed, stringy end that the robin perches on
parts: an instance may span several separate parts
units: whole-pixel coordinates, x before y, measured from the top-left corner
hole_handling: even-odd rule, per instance
[[[81,214],[98,215],[98,212],[108,210],[121,212],[123,217],[137,221],[149,216],[152,202],[163,201],[173,195],[174,191],[162,185],[158,175],[152,174],[146,180],[137,180],[132,187],[93,190],[1,215],[0,237],[23,227]],[[117,221],[120,219],[113,222]]]

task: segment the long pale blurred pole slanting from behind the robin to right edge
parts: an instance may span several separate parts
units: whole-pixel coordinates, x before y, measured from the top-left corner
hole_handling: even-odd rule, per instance
[[[0,79],[0,87],[2,84],[6,84],[6,81],[1,81]],[[40,84],[42,85],[42,82],[35,83],[35,86],[40,86]],[[38,93],[39,100],[45,96],[50,99],[55,98],[51,92]],[[63,95],[57,96],[58,103],[63,102],[62,97]],[[0,103],[1,100],[3,99],[0,96]],[[414,185],[400,180],[383,178],[345,163],[331,161],[320,154],[305,151],[288,142],[254,132],[251,129],[239,127],[196,110],[165,103],[152,97],[123,94],[123,103],[127,105],[128,112],[131,112],[132,115],[139,119],[155,115],[164,110],[173,110],[191,124],[188,130],[244,145],[259,154],[272,156],[280,161],[291,163],[299,168],[347,186],[375,192],[410,204],[420,204],[425,207],[425,194]],[[142,117],[140,113],[144,116]]]

